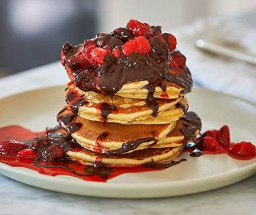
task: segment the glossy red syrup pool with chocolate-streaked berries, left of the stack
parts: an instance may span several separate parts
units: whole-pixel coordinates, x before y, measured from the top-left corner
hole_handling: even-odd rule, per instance
[[[84,181],[105,182],[124,173],[160,171],[186,161],[181,159],[164,165],[148,163],[139,167],[106,167],[100,164],[82,165],[65,156],[66,150],[81,149],[59,126],[46,128],[43,132],[32,132],[16,125],[0,128],[0,162],[11,167],[32,169],[43,175],[69,175]],[[30,152],[33,152],[32,156],[36,152],[36,157],[30,158]]]

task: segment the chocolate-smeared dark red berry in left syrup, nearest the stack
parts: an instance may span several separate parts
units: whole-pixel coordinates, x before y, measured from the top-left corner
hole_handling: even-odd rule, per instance
[[[42,152],[42,159],[46,162],[53,162],[64,157],[63,150],[58,144],[51,144]]]

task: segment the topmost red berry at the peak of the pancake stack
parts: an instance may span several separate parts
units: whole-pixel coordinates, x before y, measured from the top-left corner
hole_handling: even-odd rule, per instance
[[[127,27],[136,35],[136,36],[153,36],[153,32],[150,26],[146,23],[139,22],[135,19],[131,19]]]

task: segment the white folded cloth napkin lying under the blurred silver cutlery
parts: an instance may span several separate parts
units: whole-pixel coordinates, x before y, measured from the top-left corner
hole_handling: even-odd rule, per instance
[[[256,103],[256,66],[232,58],[202,52],[195,41],[203,36],[256,52],[256,28],[237,21],[198,19],[171,31],[177,48],[187,57],[195,85],[235,95]]]

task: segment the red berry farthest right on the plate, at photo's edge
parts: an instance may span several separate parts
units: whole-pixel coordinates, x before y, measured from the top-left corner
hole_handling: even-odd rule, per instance
[[[230,147],[231,153],[239,156],[253,156],[255,155],[255,145],[251,142],[238,142]]]

